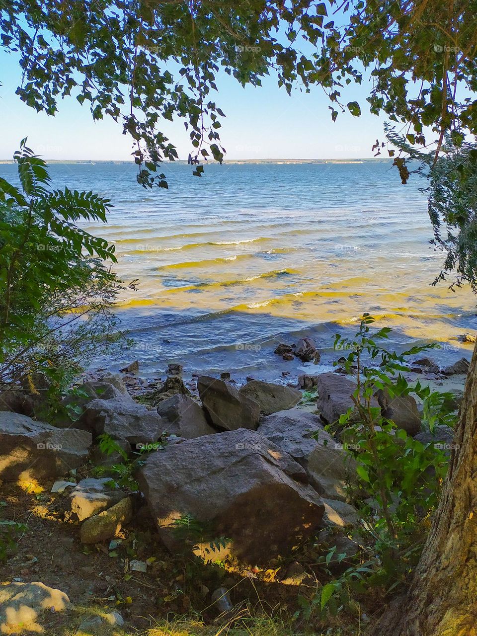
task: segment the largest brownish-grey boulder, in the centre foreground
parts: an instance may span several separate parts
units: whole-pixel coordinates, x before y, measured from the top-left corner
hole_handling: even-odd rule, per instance
[[[152,453],[138,480],[170,548],[179,539],[177,520],[190,515],[204,529],[204,541],[228,537],[228,552],[251,563],[283,555],[312,536],[324,510],[303,467],[244,428]]]

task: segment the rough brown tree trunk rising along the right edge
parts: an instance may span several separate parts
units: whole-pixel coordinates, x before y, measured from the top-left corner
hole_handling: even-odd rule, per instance
[[[432,529],[406,596],[375,636],[477,636],[477,345]]]

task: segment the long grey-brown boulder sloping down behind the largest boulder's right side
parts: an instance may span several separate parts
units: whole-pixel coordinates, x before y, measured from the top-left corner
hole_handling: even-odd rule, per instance
[[[293,408],[264,417],[258,432],[305,468],[322,497],[345,501],[347,483],[356,480],[356,462],[324,430],[319,417]]]

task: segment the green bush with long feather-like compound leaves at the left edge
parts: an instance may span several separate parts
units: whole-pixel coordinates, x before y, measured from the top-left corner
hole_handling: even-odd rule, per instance
[[[114,246],[78,226],[106,222],[110,205],[53,190],[25,139],[14,158],[21,187],[0,179],[0,382],[41,369],[54,388],[121,337],[111,309],[122,287],[104,264]]]

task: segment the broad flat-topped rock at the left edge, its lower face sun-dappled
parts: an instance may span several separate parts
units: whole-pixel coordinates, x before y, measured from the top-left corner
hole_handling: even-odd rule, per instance
[[[33,481],[63,476],[81,466],[92,444],[89,432],[59,429],[27,415],[0,412],[0,479]]]

